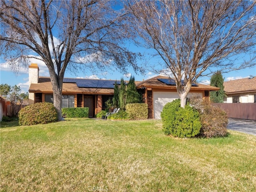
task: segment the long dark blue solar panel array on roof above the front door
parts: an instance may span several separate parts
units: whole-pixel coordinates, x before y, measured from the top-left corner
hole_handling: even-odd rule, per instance
[[[79,78],[64,78],[64,83],[76,83],[80,88],[114,88],[116,80],[101,80],[101,79],[79,79]]]

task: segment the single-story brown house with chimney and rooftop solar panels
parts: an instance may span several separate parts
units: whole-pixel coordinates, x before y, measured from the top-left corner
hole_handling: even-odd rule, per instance
[[[89,117],[105,109],[105,102],[114,96],[116,80],[64,78],[62,88],[62,107],[89,107]],[[117,81],[120,83],[120,81]],[[175,82],[165,76],[157,76],[136,82],[137,90],[148,104],[148,118],[160,118],[160,112],[167,102],[179,98]],[[188,94],[208,97],[209,91],[219,88],[194,84]],[[50,77],[39,77],[37,64],[29,66],[29,104],[53,102]]]

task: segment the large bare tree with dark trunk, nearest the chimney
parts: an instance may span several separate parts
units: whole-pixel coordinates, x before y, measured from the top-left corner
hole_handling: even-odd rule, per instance
[[[122,46],[122,13],[106,0],[1,0],[1,55],[16,70],[29,58],[49,69],[54,106],[62,118],[66,69],[138,70],[136,54]],[[115,65],[114,65],[115,64]]]

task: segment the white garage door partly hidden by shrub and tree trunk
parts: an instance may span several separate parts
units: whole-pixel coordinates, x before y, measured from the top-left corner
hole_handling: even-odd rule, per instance
[[[188,93],[187,97],[198,95],[203,97],[202,93]],[[177,92],[153,92],[154,118],[160,119],[160,114],[166,103],[179,99]]]

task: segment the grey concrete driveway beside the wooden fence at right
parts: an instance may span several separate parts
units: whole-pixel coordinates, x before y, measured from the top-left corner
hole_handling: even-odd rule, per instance
[[[256,121],[229,118],[227,128],[256,136]]]

